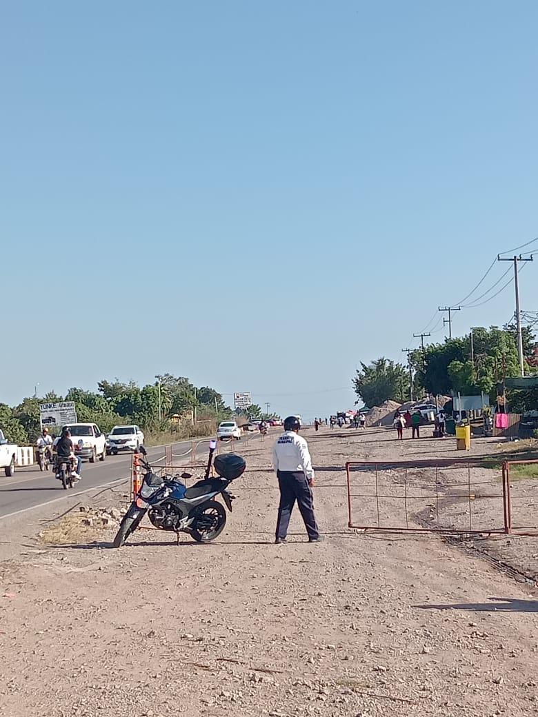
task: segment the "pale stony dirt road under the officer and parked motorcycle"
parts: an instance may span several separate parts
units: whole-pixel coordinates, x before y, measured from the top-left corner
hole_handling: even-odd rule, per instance
[[[216,543],[140,531],[113,550],[106,528],[98,542],[82,531],[51,547],[32,539],[42,523],[4,532],[0,714],[538,714],[533,589],[437,536],[346,528],[346,459],[444,455],[450,444],[305,435],[324,543],[305,542],[294,516],[290,541],[273,544],[268,441],[245,450]]]

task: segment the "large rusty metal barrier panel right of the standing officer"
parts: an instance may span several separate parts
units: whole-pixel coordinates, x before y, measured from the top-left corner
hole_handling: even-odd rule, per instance
[[[349,528],[507,533],[507,476],[499,470],[496,482],[491,473],[472,459],[348,461]]]

